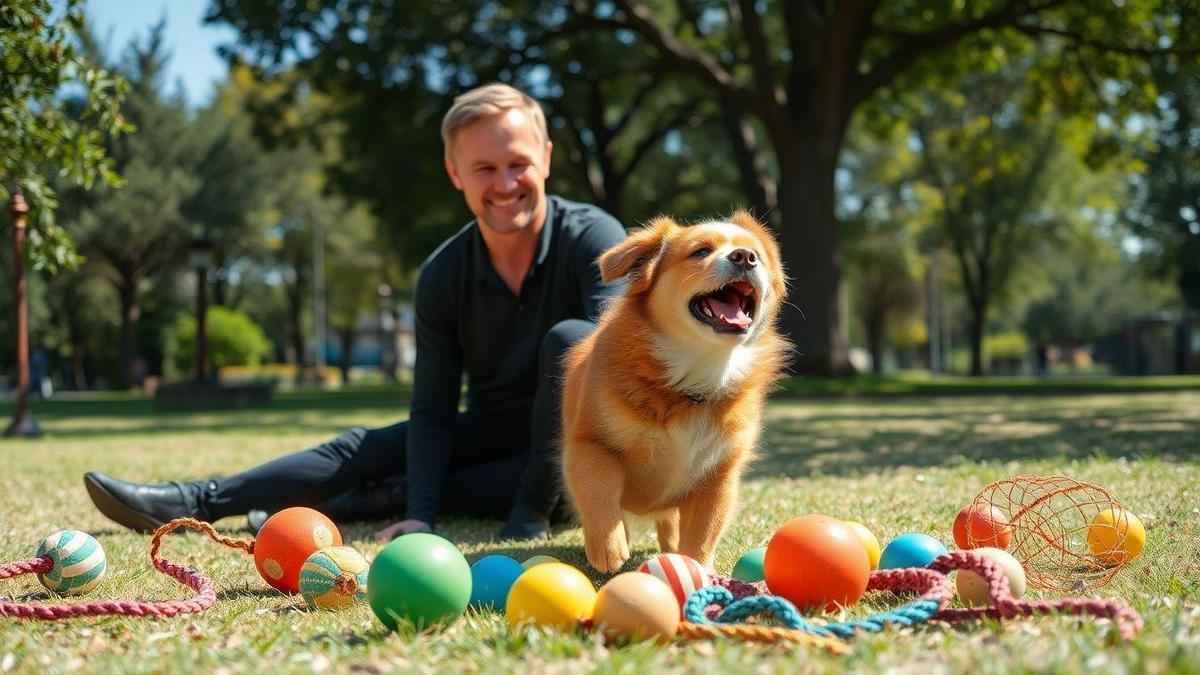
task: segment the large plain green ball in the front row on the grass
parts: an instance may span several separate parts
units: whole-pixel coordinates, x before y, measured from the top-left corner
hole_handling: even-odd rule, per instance
[[[457,546],[437,534],[404,534],[371,563],[367,602],[392,631],[401,622],[422,631],[454,621],[470,602],[470,566]]]

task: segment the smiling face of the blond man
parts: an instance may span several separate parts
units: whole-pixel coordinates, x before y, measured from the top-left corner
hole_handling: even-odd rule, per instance
[[[480,226],[508,234],[545,217],[550,153],[529,115],[510,108],[458,130],[446,173]]]

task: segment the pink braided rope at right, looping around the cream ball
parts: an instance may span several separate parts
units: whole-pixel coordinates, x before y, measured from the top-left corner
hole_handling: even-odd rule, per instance
[[[979,608],[948,608],[954,596],[949,578],[952,571],[974,572],[988,583],[991,603]],[[718,578],[716,584],[727,589],[734,598],[767,595],[764,583],[746,584],[737,579]],[[990,617],[1009,620],[1045,615],[1093,616],[1111,620],[1126,640],[1132,640],[1142,628],[1141,615],[1117,599],[1067,598],[1060,601],[1026,601],[1013,598],[1008,577],[985,556],[974,551],[950,551],[938,556],[929,567],[906,569],[880,569],[871,573],[868,591],[920,592],[919,599],[937,603],[940,610],[931,619],[940,621],[967,621]],[[704,613],[715,617],[724,608],[712,604]]]

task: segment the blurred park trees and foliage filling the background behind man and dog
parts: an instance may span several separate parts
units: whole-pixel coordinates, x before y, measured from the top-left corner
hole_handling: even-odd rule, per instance
[[[0,86],[91,129],[0,173],[60,246],[34,247],[29,280],[59,386],[182,370],[197,238],[214,243],[211,301],[262,327],[264,360],[319,353],[348,376],[380,358],[421,261],[470,217],[440,117],[491,80],[544,103],[551,192],[629,227],[739,207],[769,222],[798,372],[1139,371],[1136,327],[1163,317],[1200,344],[1192,1],[214,0],[238,38],[199,108],[163,82],[161,25],[102,46],[67,5],[20,0],[41,26],[0,26],[6,68],[22,36],[94,83]],[[1200,371],[1190,342],[1171,363]]]

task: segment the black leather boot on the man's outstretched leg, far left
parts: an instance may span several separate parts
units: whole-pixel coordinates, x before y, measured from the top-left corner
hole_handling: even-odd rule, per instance
[[[130,530],[152,532],[168,520],[185,516],[208,520],[200,508],[199,483],[146,485],[90,471],[83,484],[100,513]]]

